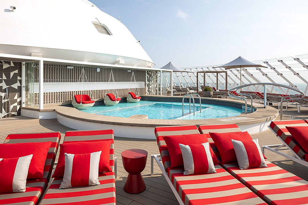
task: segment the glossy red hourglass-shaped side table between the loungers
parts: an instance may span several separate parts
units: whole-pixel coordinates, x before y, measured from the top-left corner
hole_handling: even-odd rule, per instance
[[[138,194],[145,190],[141,172],[147,164],[148,152],[143,149],[128,149],[121,153],[124,169],[128,177],[124,185],[124,191]]]

